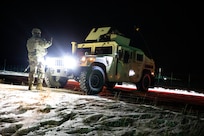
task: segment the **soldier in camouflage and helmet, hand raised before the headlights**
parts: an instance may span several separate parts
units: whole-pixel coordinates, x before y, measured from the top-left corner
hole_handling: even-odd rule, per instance
[[[37,90],[42,90],[43,80],[45,75],[44,57],[47,54],[47,48],[52,45],[52,38],[46,41],[41,38],[41,30],[38,28],[32,29],[32,37],[27,40],[26,47],[28,51],[29,60],[29,76],[28,76],[28,90],[33,89],[35,82],[35,74],[37,74]]]

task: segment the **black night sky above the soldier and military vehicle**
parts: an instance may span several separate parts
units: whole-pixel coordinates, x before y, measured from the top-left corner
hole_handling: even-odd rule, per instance
[[[47,40],[53,37],[48,54],[59,55],[68,52],[71,41],[83,42],[93,27],[112,26],[131,38],[133,46],[150,52],[157,68],[175,73],[203,73],[202,3],[111,0],[2,3],[0,65],[4,60],[8,64],[27,65],[25,45],[33,27],[39,27]],[[140,27],[144,40],[134,26]]]

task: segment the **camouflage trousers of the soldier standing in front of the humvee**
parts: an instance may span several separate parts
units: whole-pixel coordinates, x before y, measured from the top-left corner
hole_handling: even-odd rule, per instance
[[[45,77],[45,66],[42,61],[29,60],[30,72],[28,75],[28,83],[34,84],[35,77],[37,78],[37,84],[42,84]]]

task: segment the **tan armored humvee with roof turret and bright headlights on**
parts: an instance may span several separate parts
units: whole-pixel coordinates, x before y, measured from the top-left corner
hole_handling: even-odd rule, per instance
[[[111,27],[93,28],[85,42],[71,42],[71,45],[75,60],[64,61],[70,66],[77,63],[76,67],[48,67],[48,86],[63,87],[69,79],[74,79],[89,95],[100,93],[103,87],[112,89],[116,84],[123,83],[135,84],[138,91],[148,91],[154,86],[154,60],[141,49],[131,46],[129,38]]]

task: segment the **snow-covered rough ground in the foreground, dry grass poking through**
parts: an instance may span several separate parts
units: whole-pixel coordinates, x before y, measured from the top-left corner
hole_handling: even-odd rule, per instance
[[[0,84],[2,136],[203,136],[204,118],[100,96]]]

